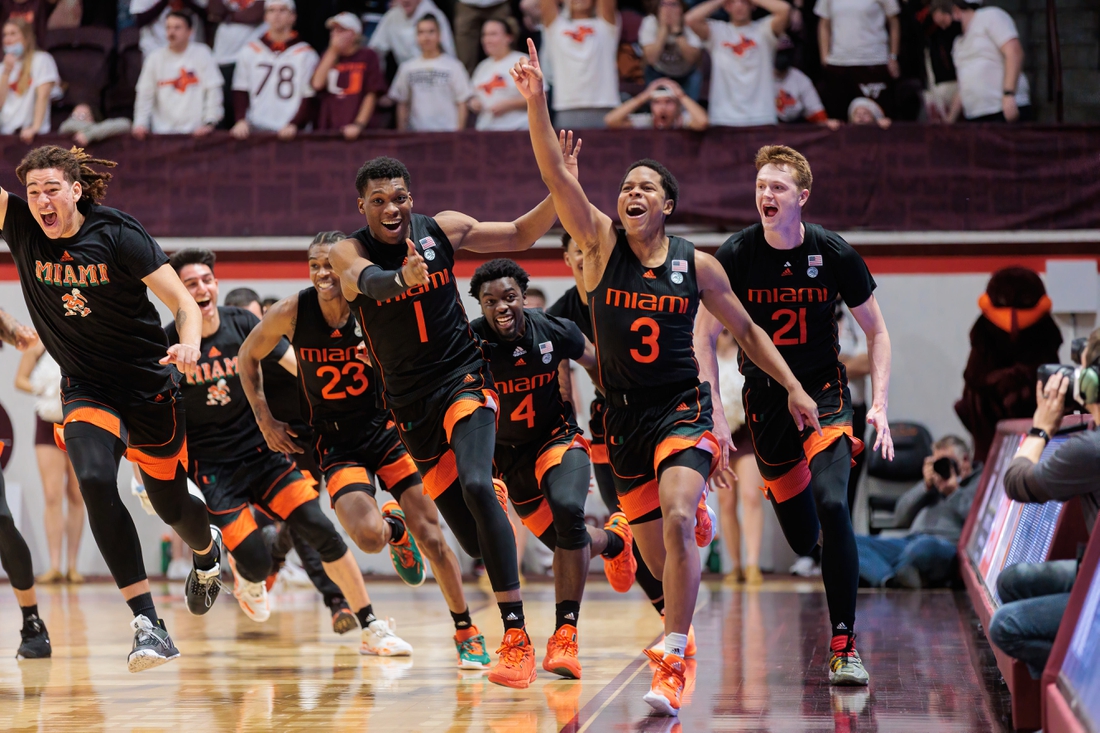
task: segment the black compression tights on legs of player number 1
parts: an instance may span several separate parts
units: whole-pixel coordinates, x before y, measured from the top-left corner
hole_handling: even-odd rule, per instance
[[[497,593],[519,590],[516,535],[493,489],[493,452],[496,415],[475,409],[455,424],[451,450],[459,485],[448,486],[436,499],[439,513],[471,557],[485,560],[485,572]]]

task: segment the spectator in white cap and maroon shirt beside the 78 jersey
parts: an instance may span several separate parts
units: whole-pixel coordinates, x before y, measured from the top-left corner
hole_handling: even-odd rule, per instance
[[[321,97],[318,130],[340,130],[356,140],[371,123],[378,96],[386,91],[378,54],[363,46],[363,24],[353,13],[330,18],[329,47],[314,72],[314,89]]]

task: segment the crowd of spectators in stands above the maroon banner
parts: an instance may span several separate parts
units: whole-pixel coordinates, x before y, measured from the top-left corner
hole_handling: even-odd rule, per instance
[[[0,0],[0,133],[1032,119],[1007,12],[965,0]]]

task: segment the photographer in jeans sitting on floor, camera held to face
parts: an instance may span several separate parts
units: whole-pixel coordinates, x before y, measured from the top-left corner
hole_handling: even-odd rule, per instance
[[[924,459],[924,480],[898,500],[901,537],[856,535],[859,579],[871,588],[941,588],[955,578],[963,525],[981,482],[970,447],[948,435]]]

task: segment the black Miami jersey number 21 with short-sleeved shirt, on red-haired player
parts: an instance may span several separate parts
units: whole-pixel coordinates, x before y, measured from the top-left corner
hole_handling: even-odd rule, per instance
[[[848,242],[807,223],[802,244],[777,250],[756,223],[727,239],[715,256],[734,294],[771,337],[795,376],[813,378],[837,369],[836,296],[855,308],[876,287],[867,263]],[[745,376],[767,376],[744,350],[738,361]]]

